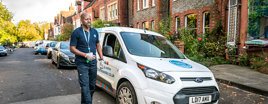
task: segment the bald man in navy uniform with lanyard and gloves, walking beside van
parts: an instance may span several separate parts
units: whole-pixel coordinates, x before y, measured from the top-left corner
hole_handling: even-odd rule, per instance
[[[81,27],[73,30],[70,40],[70,52],[75,54],[75,65],[81,86],[81,104],[92,104],[97,79],[96,49],[100,56],[100,68],[103,69],[103,55],[96,29],[91,28],[91,17],[87,13],[80,16]]]

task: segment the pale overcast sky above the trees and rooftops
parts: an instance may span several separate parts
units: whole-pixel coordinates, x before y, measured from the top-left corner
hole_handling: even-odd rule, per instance
[[[31,20],[31,23],[54,22],[61,10],[69,11],[71,3],[75,7],[75,0],[2,0],[2,3],[9,12],[14,13],[14,24],[26,19]]]

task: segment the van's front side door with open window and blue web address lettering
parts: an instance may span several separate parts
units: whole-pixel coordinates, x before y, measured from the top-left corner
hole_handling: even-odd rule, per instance
[[[103,40],[100,41],[103,43],[103,46],[110,46],[112,47],[112,55],[108,55],[103,53],[104,58],[104,67],[100,69],[100,61],[98,61],[98,73],[97,73],[97,83],[111,92],[112,94],[116,95],[116,90],[114,89],[114,78],[117,75],[117,64],[119,62],[119,51],[121,49],[121,45],[117,39],[117,34],[114,32],[110,33],[102,33],[104,35]],[[99,56],[97,56],[98,60]]]

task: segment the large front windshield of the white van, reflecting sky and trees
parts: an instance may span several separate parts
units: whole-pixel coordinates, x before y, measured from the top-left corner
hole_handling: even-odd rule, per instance
[[[131,32],[120,34],[132,55],[185,59],[184,55],[164,37]]]

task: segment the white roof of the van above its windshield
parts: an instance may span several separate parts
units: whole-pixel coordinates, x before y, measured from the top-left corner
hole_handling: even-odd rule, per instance
[[[156,36],[162,36],[161,34],[158,34],[156,32],[152,31],[146,31],[144,32],[144,29],[136,29],[136,28],[130,28],[130,27],[103,27],[103,28],[97,28],[96,29],[98,33],[104,32],[104,31],[115,31],[117,33],[120,33],[122,31],[124,32],[134,32],[134,33],[142,33],[142,34],[151,34],[151,35],[156,35]]]

